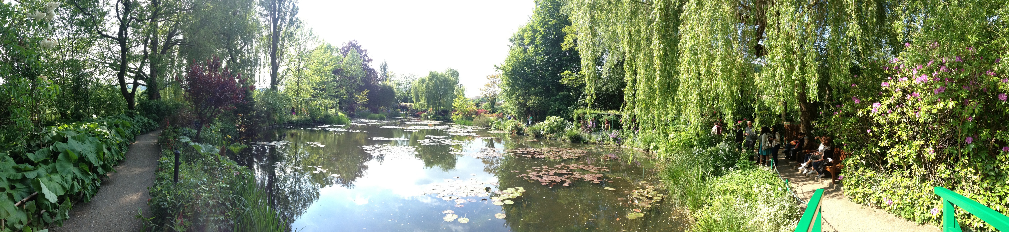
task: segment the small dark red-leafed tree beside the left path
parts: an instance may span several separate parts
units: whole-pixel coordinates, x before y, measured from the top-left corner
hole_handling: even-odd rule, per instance
[[[188,93],[187,100],[193,103],[193,111],[200,128],[196,131],[196,139],[200,139],[207,123],[217,118],[217,115],[235,108],[235,104],[245,102],[245,93],[255,89],[249,85],[242,87],[247,80],[241,75],[221,68],[221,60],[214,57],[205,64],[193,64],[189,74],[182,80],[183,90]]]

